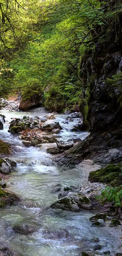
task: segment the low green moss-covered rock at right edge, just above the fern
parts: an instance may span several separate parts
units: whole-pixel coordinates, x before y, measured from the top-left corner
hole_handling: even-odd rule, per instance
[[[109,185],[121,186],[122,184],[122,163],[117,165],[109,164],[105,168],[101,168],[89,173],[88,180],[91,182],[108,183]]]

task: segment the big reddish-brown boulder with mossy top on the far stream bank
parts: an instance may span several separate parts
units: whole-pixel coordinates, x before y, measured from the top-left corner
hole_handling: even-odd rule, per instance
[[[35,93],[32,96],[26,98],[26,96],[21,96],[21,102],[19,105],[19,109],[28,109],[33,106],[38,106],[42,103],[42,93]]]

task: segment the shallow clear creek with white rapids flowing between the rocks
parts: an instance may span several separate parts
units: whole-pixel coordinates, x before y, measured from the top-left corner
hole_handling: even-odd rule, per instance
[[[88,240],[98,237],[101,252],[111,251],[114,255],[120,242],[106,228],[91,227],[89,217],[96,213],[95,209],[75,213],[49,208],[58,200],[58,192],[52,193],[51,189],[58,183],[62,186],[83,183],[84,170],[58,167],[54,157],[46,153],[46,146],[25,147],[17,135],[8,133],[11,117],[44,116],[46,113],[3,111],[2,114],[6,116],[6,123],[0,137],[14,147],[12,159],[18,163],[17,168],[5,176],[6,189],[21,196],[23,201],[0,209],[0,243],[19,256],[76,256],[83,249],[91,249],[95,243]],[[87,132],[69,132],[74,123],[61,123],[65,118],[66,115],[56,115],[56,121],[64,127],[61,140],[84,139],[88,135]],[[12,226],[20,222],[35,224],[38,231],[29,235],[16,233]],[[48,230],[44,232],[44,229]]]

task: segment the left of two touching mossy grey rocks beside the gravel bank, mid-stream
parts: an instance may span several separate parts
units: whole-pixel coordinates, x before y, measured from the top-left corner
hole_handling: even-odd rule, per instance
[[[71,197],[63,197],[59,199],[58,201],[51,204],[52,208],[58,208],[62,210],[68,210],[68,211],[79,211],[78,205],[74,202],[74,200],[71,199]]]

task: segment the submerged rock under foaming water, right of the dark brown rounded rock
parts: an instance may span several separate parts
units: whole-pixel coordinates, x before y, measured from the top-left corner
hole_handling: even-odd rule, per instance
[[[70,236],[68,231],[65,229],[58,229],[58,230],[42,229],[42,235],[45,239],[51,239],[51,240],[61,240],[63,238],[68,238]]]

